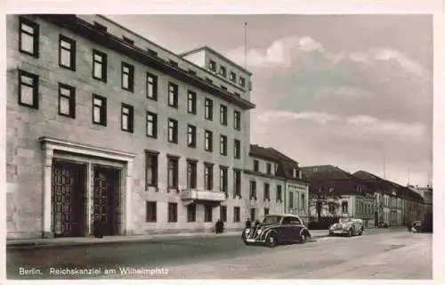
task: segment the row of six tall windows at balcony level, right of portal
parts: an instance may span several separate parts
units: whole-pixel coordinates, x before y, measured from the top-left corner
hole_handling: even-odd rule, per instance
[[[158,152],[146,151],[145,153],[145,181],[146,189],[156,187],[158,189]],[[167,155],[167,191],[179,189],[179,157]],[[198,184],[198,160],[186,159],[187,188],[197,189]],[[219,190],[228,192],[229,167],[219,167]],[[214,164],[204,162],[204,190],[214,190]],[[241,197],[241,170],[233,169],[233,194]]]

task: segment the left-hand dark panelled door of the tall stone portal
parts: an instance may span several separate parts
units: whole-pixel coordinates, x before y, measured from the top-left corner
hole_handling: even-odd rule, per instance
[[[85,165],[53,163],[53,231],[56,237],[85,235]]]

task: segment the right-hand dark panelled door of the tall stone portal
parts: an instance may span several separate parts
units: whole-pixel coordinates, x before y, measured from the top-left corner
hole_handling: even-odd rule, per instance
[[[101,220],[103,235],[119,235],[122,228],[120,170],[93,167],[93,217]]]

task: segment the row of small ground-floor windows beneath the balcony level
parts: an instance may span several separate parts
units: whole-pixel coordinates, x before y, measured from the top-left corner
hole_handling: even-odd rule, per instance
[[[227,222],[227,207],[220,207],[220,217],[223,222]],[[213,217],[213,207],[209,205],[204,206],[204,222],[212,223]],[[239,223],[241,221],[241,210],[239,207],[233,208],[233,222]],[[158,203],[156,201],[146,202],[146,222],[156,223],[158,222]],[[177,223],[178,222],[178,203],[170,202],[167,207],[167,222]],[[190,204],[187,206],[187,222],[196,222],[196,204]]]

